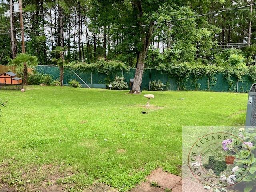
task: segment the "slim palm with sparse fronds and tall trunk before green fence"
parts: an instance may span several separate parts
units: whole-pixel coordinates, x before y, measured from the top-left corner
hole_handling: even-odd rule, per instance
[[[57,58],[52,58],[52,62],[56,62],[60,68],[60,86],[63,86],[63,72],[64,72],[64,64],[66,64],[66,60],[64,60],[63,52],[66,50],[66,46],[63,48],[61,46],[56,46],[52,53],[57,55]]]

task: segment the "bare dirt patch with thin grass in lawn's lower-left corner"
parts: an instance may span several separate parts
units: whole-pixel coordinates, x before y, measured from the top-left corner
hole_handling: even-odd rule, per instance
[[[71,184],[57,184],[57,180],[72,176],[70,168],[44,164],[42,166],[30,166],[20,170],[15,177],[8,177],[10,173],[5,172],[0,178],[0,192],[64,192]]]

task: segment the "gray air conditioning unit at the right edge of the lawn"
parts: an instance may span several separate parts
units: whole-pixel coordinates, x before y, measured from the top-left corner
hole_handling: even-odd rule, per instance
[[[256,126],[256,83],[249,91],[245,126]]]

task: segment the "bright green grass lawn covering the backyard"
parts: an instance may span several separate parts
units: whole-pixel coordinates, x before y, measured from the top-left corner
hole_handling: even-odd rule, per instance
[[[248,94],[143,92],[28,86],[0,90],[0,188],[55,183],[79,191],[94,181],[127,191],[156,167],[181,175],[182,126],[244,124]],[[184,98],[184,99],[181,99]],[[154,108],[153,108],[154,109]]]

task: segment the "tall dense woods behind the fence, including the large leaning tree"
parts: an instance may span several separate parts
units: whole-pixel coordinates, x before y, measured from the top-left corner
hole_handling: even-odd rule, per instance
[[[11,3],[0,4],[4,65],[21,52]],[[54,64],[52,50],[66,46],[63,60],[71,64],[104,57],[136,67],[136,90],[145,67],[255,64],[253,0],[23,0],[22,6],[26,52],[39,64]]]

